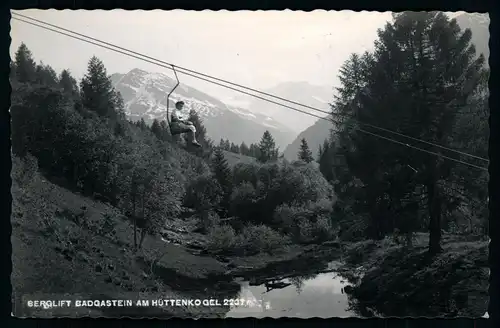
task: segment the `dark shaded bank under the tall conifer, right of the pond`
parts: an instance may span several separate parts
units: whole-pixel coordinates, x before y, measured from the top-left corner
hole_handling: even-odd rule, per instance
[[[341,272],[355,284],[351,295],[359,311],[398,317],[483,316],[488,242],[445,234],[443,251],[432,259],[427,245],[427,234],[417,234],[410,248],[390,239],[346,245]]]

